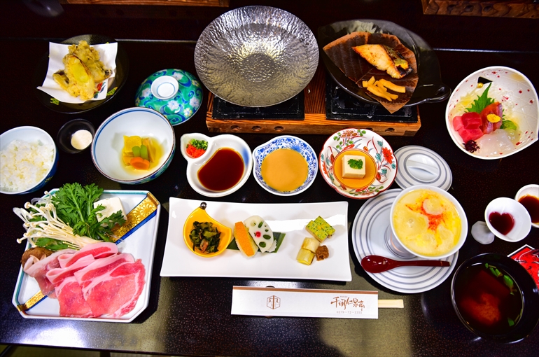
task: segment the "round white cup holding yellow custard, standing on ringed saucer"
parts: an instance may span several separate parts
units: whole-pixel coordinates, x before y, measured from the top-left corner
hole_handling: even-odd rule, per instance
[[[402,243],[402,241],[400,240],[400,238],[398,237],[398,235],[395,232],[395,228],[393,227],[393,211],[395,209],[395,204],[397,204],[397,202],[402,198],[402,196],[406,195],[410,191],[412,191],[412,190],[422,190],[422,189],[434,191],[435,193],[438,193],[438,194],[444,196],[445,198],[447,198],[447,200],[449,200],[452,204],[454,204],[454,206],[456,208],[456,212],[458,213],[458,216],[461,218],[461,235],[458,237],[458,241],[455,244],[455,246],[450,251],[447,251],[444,254],[440,254],[440,255],[422,255],[422,254],[417,253],[416,251],[412,251],[410,248],[408,248],[407,246],[405,246],[405,244]],[[462,208],[461,204],[458,203],[458,201],[456,200],[455,197],[453,197],[452,195],[447,193],[447,191],[442,190],[441,188],[438,188],[438,187],[435,187],[435,186],[416,185],[416,186],[410,186],[409,188],[405,188],[404,190],[402,190],[398,194],[398,196],[395,197],[395,200],[391,204],[391,213],[390,213],[389,217],[390,217],[390,221],[391,221],[391,231],[393,232],[393,236],[397,240],[394,243],[400,244],[400,246],[398,248],[404,248],[409,253],[412,253],[413,255],[416,255],[418,257],[425,258],[425,259],[441,259],[441,258],[448,257],[449,255],[453,255],[454,253],[456,253],[458,251],[458,249],[460,249],[463,246],[464,241],[466,240],[466,237],[468,236],[468,220],[466,219],[466,214],[465,214],[464,209]]]

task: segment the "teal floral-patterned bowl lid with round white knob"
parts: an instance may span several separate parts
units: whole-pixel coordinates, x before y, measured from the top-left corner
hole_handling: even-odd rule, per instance
[[[170,124],[185,123],[202,104],[202,86],[182,69],[162,69],[146,78],[137,90],[136,106],[158,111]]]

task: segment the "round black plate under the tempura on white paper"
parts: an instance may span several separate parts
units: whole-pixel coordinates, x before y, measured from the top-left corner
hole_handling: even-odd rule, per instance
[[[117,42],[114,38],[108,36],[87,34],[68,38],[61,43],[66,45],[73,45],[78,44],[78,42],[82,40],[86,41],[89,45],[99,45],[102,43]],[[43,84],[43,80],[45,79],[45,76],[47,76],[48,56],[48,53],[45,53],[45,55],[43,55],[43,57],[41,57],[41,59],[39,60],[36,71],[34,72],[32,84],[34,85],[34,92],[36,93],[38,101],[43,103],[43,105],[46,106],[48,109],[52,109],[53,111],[57,111],[59,113],[83,113],[85,111],[89,111],[90,109],[97,108],[97,106],[101,106],[106,102],[109,102],[109,100],[113,99],[113,97],[115,97],[116,94],[120,92],[120,89],[122,89],[123,85],[125,84],[125,80],[127,79],[127,73],[129,72],[129,59],[127,59],[127,53],[122,48],[120,43],[118,43],[118,52],[116,54],[116,75],[112,85],[109,88],[109,93],[106,94],[105,99],[87,100],[86,102],[80,104],[64,102],[56,103],[55,101],[51,100],[52,97],[50,96],[50,94],[37,89],[38,86]],[[116,88],[116,90],[113,90],[114,88]]]

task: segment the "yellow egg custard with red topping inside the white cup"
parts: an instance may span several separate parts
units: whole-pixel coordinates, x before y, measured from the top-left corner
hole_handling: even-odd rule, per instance
[[[461,235],[455,205],[433,190],[412,190],[400,197],[391,219],[400,242],[421,255],[448,253]]]

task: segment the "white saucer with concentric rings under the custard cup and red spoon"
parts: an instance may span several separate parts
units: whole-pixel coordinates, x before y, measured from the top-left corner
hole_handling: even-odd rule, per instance
[[[353,251],[359,261],[371,254],[402,260],[388,250],[384,241],[391,204],[400,191],[398,188],[384,191],[359,209],[352,225]],[[382,286],[399,293],[422,293],[435,288],[449,277],[456,266],[456,258],[458,252],[442,259],[449,262],[449,267],[398,267],[387,272],[367,274]]]

